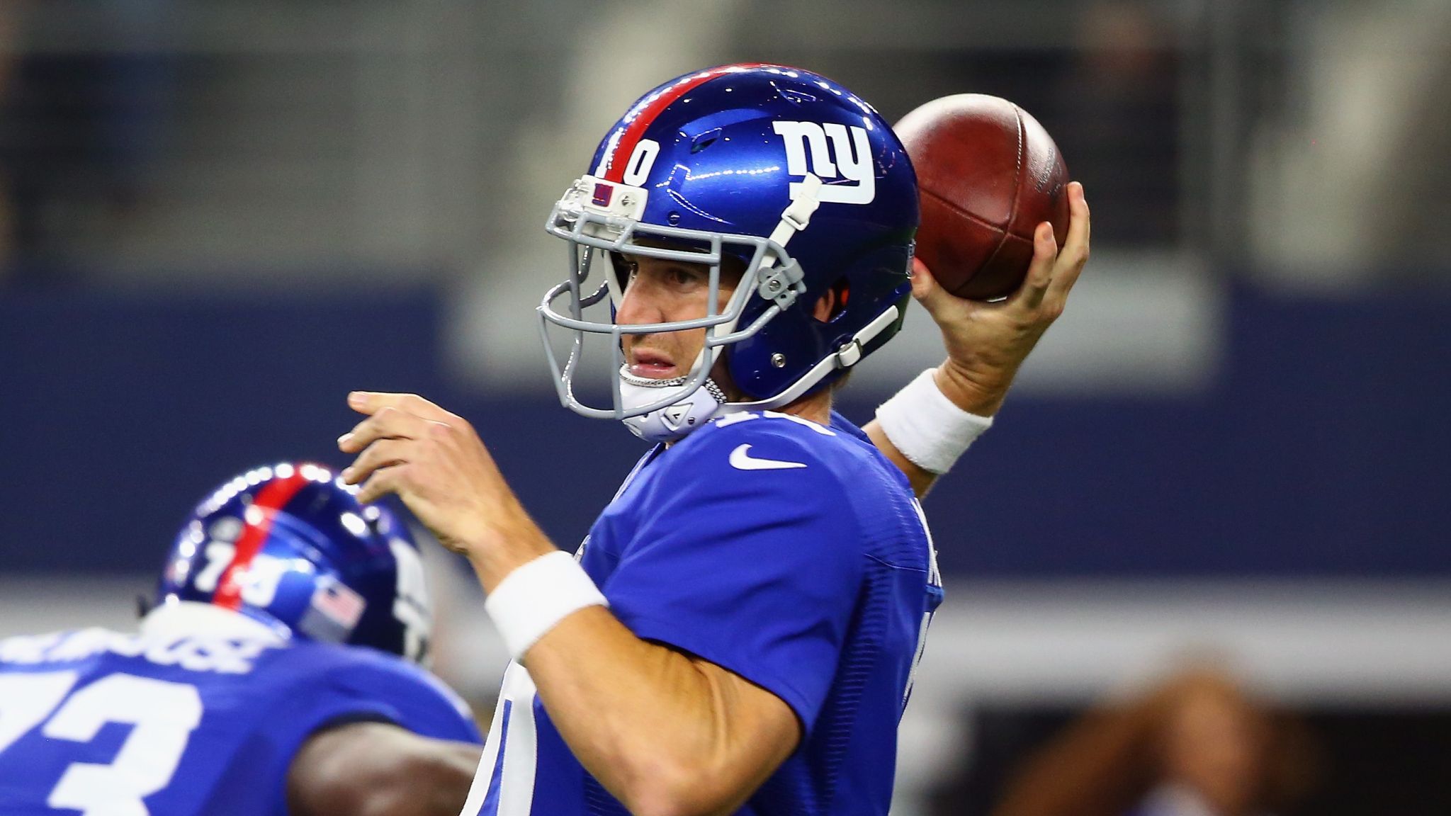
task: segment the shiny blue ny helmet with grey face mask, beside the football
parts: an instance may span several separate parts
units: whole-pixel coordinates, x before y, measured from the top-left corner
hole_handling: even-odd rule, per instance
[[[609,129],[546,227],[570,242],[570,276],[538,306],[560,401],[659,441],[712,415],[778,408],[831,383],[901,328],[917,219],[907,151],[875,109],[837,83],[753,64],[662,84]],[[708,266],[710,312],[624,325],[611,308],[609,322],[586,319],[585,309],[607,298],[618,306],[621,254]],[[727,257],[744,273],[717,309]],[[831,290],[837,309],[817,319],[814,305]],[[551,347],[551,325],[573,332],[567,356]],[[705,348],[686,376],[643,380],[625,367],[622,335],[699,328]],[[586,335],[609,337],[609,407],[576,395]],[[721,354],[744,401],[726,402],[710,380]]]

